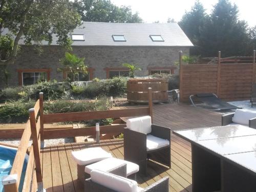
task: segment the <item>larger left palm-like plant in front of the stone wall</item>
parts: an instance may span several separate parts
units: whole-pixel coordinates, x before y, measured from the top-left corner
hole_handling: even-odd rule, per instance
[[[63,68],[59,68],[58,71],[69,72],[70,80],[75,81],[75,76],[77,76],[78,73],[82,73],[83,75],[88,73],[87,66],[84,65],[84,59],[84,57],[79,58],[74,54],[66,52],[65,57],[59,60]]]

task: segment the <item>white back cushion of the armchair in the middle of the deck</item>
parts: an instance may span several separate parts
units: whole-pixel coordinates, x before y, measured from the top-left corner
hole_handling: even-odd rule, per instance
[[[136,117],[132,119],[128,119],[126,121],[126,126],[128,129],[149,134],[151,133],[151,116],[143,116],[143,117]]]

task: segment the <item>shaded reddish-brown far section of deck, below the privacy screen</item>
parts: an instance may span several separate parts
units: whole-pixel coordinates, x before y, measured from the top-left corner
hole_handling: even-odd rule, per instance
[[[114,109],[137,108],[140,106],[119,106]],[[221,114],[196,108],[184,103],[154,104],[153,123],[170,127],[173,131],[207,126],[221,126]],[[127,118],[122,118],[126,121]]]

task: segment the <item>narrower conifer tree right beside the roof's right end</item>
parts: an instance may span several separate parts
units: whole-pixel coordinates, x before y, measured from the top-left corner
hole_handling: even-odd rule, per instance
[[[181,29],[193,42],[194,49],[191,49],[191,54],[200,54],[201,35],[204,25],[208,22],[208,15],[205,12],[203,5],[196,1],[189,12],[185,12],[179,22]]]

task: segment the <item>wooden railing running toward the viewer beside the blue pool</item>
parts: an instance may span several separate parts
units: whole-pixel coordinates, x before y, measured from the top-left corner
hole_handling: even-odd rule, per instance
[[[34,108],[29,110],[30,118],[28,119],[23,136],[20,140],[17,153],[13,162],[11,173],[4,179],[5,192],[17,192],[20,178],[22,177],[22,170],[25,163],[27,152],[29,152],[29,158],[27,162],[27,169],[25,180],[23,184],[23,191],[36,191],[38,186],[42,182],[41,165],[40,165],[40,116],[36,121],[36,117],[39,113],[40,105],[42,105],[42,93],[40,98],[36,101]],[[33,144],[29,147],[30,137],[33,138]]]

